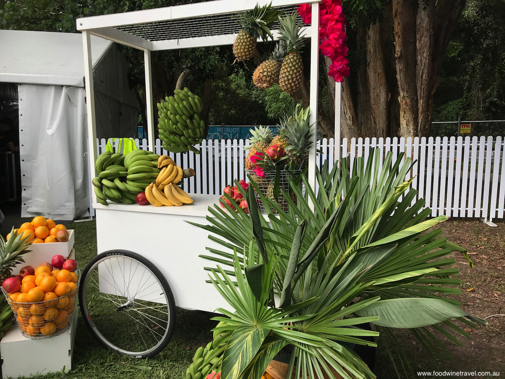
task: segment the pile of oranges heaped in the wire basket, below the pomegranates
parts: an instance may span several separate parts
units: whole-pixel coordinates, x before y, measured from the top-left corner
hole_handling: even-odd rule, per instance
[[[47,266],[26,275],[19,292],[7,298],[21,330],[31,338],[51,336],[64,329],[74,311],[77,274]]]

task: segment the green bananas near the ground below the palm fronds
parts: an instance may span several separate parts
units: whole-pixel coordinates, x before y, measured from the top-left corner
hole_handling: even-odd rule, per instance
[[[219,329],[217,329],[219,328]],[[228,329],[224,330],[223,328]],[[214,330],[213,340],[207,346],[199,347],[186,370],[186,379],[204,379],[212,371],[221,371],[223,352],[231,336],[230,324],[220,321]]]

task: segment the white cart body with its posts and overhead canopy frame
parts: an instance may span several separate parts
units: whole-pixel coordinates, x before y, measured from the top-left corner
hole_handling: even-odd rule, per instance
[[[319,34],[319,1],[312,4],[312,25],[304,27],[307,38]],[[159,9],[111,14],[77,19],[77,29],[82,31],[87,125],[90,154],[90,173],[96,176],[94,162],[96,150],[95,104],[91,66],[90,35],[106,38],[144,52],[145,90],[147,108],[147,140],[154,151],[155,129],[153,112],[153,87],[151,82],[151,52],[233,44],[240,27],[232,16],[253,9],[256,4],[267,5],[270,0],[216,0]],[[273,0],[272,7],[296,9],[299,0]],[[274,39],[279,33],[274,30]],[[308,180],[316,183],[317,105],[319,74],[319,40],[310,49],[310,122],[313,144],[309,155]],[[230,62],[231,64],[231,62]],[[336,86],[335,137],[340,139],[340,85]],[[338,146],[338,145],[337,145]],[[339,149],[336,149],[339,151]],[[337,152],[336,152],[337,153]],[[335,154],[338,159],[338,154]],[[98,253],[125,249],[143,255],[165,275],[174,294],[177,306],[188,309],[214,311],[226,307],[224,300],[205,282],[208,263],[198,255],[212,246],[204,229],[185,221],[206,223],[207,208],[217,202],[215,195],[192,195],[194,203],[183,207],[154,207],[102,204],[93,202],[96,210]],[[217,244],[216,244],[217,246]]]

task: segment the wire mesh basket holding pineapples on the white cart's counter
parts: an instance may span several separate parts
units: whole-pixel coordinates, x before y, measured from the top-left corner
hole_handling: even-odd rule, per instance
[[[279,176],[279,196],[278,200],[275,200],[274,197],[274,186],[275,186],[275,172],[272,173],[265,173],[264,177],[260,177],[256,175],[256,173],[252,170],[245,170],[252,180],[255,181],[255,183],[258,185],[258,188],[260,189],[261,193],[263,196],[272,199],[275,201],[279,207],[287,212],[288,211],[288,201],[282,196],[281,194],[281,189],[289,194],[289,197],[291,200],[296,204],[296,195],[293,193],[292,189],[289,186],[288,178],[291,178],[294,180],[299,174],[301,173],[301,170],[294,170],[294,171],[287,171],[287,170],[281,170],[280,171],[280,176]],[[305,184],[300,180],[300,185],[301,185],[301,193],[305,195]],[[273,213],[277,214],[277,210],[271,208],[268,204],[263,204],[261,201],[260,194],[258,194],[255,191],[255,197],[256,197],[256,202],[258,203],[258,210],[261,213],[267,213],[267,209],[272,210]]]

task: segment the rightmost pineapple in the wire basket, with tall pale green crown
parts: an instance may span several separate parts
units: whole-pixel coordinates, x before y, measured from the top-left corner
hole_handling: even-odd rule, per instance
[[[309,116],[310,109],[303,109],[301,104],[298,104],[294,115],[285,121],[289,135],[289,144],[285,151],[290,157],[293,168],[303,168],[309,156],[309,150],[313,143]]]

